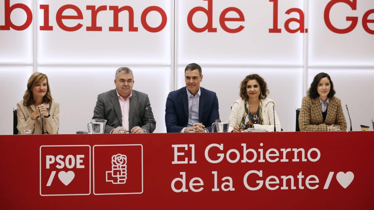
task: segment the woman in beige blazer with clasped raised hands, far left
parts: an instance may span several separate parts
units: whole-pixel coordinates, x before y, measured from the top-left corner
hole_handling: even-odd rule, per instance
[[[24,134],[24,130],[31,130],[32,134],[57,134],[59,114],[60,105],[56,99],[52,99],[47,75],[40,72],[32,74],[27,82],[24,99],[17,103],[18,133]]]

